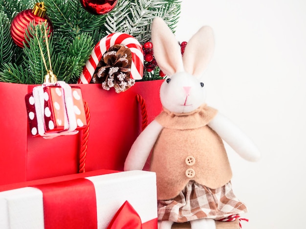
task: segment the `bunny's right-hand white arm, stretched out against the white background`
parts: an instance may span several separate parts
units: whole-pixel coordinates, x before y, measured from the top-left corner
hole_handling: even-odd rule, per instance
[[[261,153],[251,141],[234,123],[219,112],[208,123],[219,136],[243,159],[248,161],[258,161]]]

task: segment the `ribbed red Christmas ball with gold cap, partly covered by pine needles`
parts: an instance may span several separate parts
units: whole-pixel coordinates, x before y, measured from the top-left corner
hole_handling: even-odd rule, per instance
[[[23,10],[12,20],[11,23],[11,37],[13,41],[21,48],[23,48],[23,42],[28,46],[25,40],[25,31],[28,25],[32,21],[34,25],[38,25],[47,22],[49,29],[49,35],[53,31],[51,20],[45,15],[46,9],[44,8],[44,2],[36,3],[33,9]]]

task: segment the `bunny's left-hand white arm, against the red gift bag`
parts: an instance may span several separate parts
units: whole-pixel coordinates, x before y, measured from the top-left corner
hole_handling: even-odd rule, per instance
[[[124,171],[142,170],[163,126],[153,120],[136,138],[124,164]]]

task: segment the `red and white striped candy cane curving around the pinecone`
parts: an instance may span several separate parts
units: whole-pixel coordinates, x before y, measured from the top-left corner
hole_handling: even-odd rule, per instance
[[[94,74],[102,55],[113,45],[122,44],[131,50],[131,78],[142,79],[143,75],[143,51],[140,43],[129,34],[113,33],[102,38],[92,50],[78,83],[88,84]]]

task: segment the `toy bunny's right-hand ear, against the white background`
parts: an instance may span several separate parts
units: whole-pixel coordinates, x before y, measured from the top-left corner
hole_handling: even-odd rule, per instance
[[[187,43],[183,56],[185,71],[193,76],[201,76],[213,55],[214,46],[212,28],[203,26]]]

